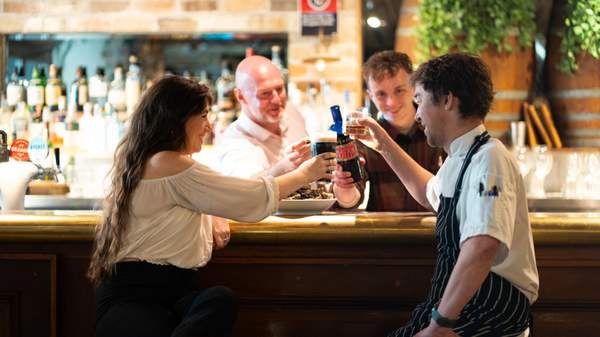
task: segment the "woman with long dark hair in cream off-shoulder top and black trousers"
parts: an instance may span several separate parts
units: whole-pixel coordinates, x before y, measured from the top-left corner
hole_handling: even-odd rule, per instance
[[[223,218],[259,221],[302,185],[331,178],[332,154],[256,180],[196,163],[191,154],[210,132],[210,105],[206,86],[168,76],[146,91],[131,117],[88,270],[97,287],[97,337],[229,336],[236,317],[231,290],[194,284],[194,269],[229,240]]]

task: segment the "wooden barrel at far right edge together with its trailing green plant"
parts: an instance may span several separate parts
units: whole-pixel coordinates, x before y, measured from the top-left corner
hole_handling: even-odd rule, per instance
[[[600,146],[600,0],[555,0],[546,92],[565,144]]]

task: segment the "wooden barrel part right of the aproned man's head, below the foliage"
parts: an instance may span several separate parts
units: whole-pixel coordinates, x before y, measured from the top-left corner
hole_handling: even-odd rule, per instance
[[[516,36],[509,36],[508,41],[512,53],[498,53],[495,47],[488,47],[481,54],[492,73],[495,92],[485,126],[493,137],[505,143],[509,140],[510,122],[523,120],[521,106],[529,96],[535,73],[533,48],[522,48]]]

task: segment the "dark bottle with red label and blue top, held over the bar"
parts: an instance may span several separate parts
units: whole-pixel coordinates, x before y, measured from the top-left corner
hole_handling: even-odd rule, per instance
[[[352,173],[354,182],[359,182],[363,179],[362,168],[358,160],[358,149],[356,142],[342,130],[342,113],[339,105],[330,107],[333,116],[334,124],[331,130],[337,133],[337,145],[335,147],[335,155],[337,163],[342,167],[342,171]]]

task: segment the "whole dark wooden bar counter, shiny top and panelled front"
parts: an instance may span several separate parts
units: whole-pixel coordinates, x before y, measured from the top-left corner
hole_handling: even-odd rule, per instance
[[[8,336],[93,335],[94,295],[85,272],[100,218],[98,211],[0,213],[0,327]],[[600,213],[530,219],[540,273],[534,335],[597,333]],[[236,292],[236,337],[385,336],[427,294],[434,226],[431,213],[233,222],[229,246],[198,270],[198,282]]]

